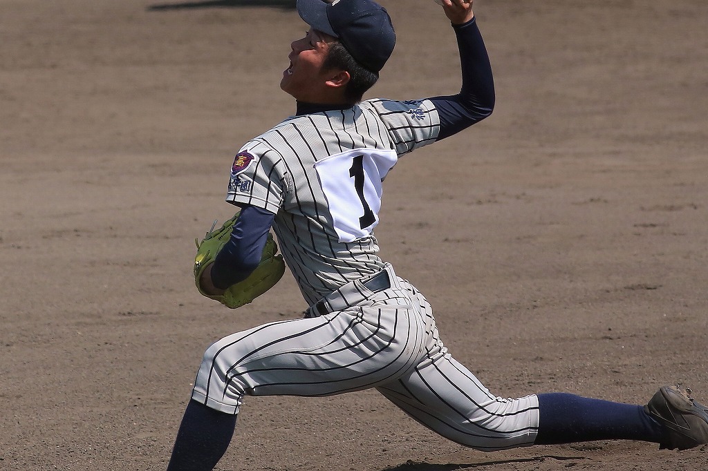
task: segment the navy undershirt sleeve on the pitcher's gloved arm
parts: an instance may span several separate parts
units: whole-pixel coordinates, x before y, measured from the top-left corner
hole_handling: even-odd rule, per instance
[[[227,289],[248,278],[258,267],[273,219],[275,214],[265,209],[254,206],[241,209],[231,238],[212,264],[212,283],[215,287]]]

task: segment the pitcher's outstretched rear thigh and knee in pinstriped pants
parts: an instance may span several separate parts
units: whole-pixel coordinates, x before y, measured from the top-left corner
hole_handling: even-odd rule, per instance
[[[378,390],[413,419],[465,446],[493,451],[535,440],[536,397],[496,397],[445,348]]]

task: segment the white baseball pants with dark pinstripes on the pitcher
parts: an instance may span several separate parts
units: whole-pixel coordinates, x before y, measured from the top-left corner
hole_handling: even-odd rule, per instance
[[[430,304],[390,265],[390,287],[353,281],[327,296],[324,315],[270,322],[212,344],[193,400],[237,414],[246,395],[319,397],[377,388],[429,429],[483,451],[530,446],[535,395],[495,397],[440,341]]]

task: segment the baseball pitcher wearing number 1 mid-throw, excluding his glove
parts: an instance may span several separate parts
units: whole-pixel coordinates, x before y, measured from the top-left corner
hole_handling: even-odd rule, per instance
[[[564,393],[493,395],[443,345],[426,298],[379,258],[373,231],[389,170],[483,120],[494,105],[472,0],[439,3],[457,35],[462,89],[395,101],[362,100],[394,49],[385,9],[372,0],[297,0],[310,29],[292,42],[280,82],[296,115],[236,155],[227,201],[241,213],[198,281],[219,295],[247,279],[273,228],[309,308],[302,319],[237,332],[205,351],[169,471],[212,470],[247,395],[366,388],[477,450],[613,438],[681,450],[708,443],[706,407],[678,388],[661,388],[646,406]]]

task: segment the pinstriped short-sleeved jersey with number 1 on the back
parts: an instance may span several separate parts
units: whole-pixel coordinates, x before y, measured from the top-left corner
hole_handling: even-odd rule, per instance
[[[241,147],[227,202],[275,214],[280,251],[305,300],[380,271],[373,230],[382,181],[405,153],[435,141],[430,100],[366,100],[290,117]]]

